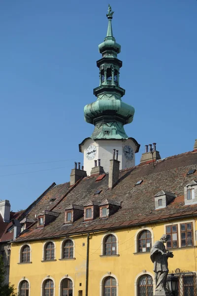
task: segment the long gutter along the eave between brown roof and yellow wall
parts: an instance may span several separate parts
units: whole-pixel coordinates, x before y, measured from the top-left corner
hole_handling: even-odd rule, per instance
[[[116,226],[116,227],[109,227],[109,228],[105,228],[105,229],[97,229],[97,230],[92,230],[90,232],[86,232],[86,231],[82,231],[82,232],[73,232],[73,233],[69,233],[69,234],[62,234],[62,235],[52,235],[52,236],[45,236],[45,237],[40,237],[40,238],[30,238],[28,239],[28,237],[26,237],[25,239],[21,239],[21,240],[17,240],[17,241],[13,241],[12,244],[17,244],[23,241],[37,241],[37,240],[46,240],[46,239],[50,239],[50,238],[61,238],[61,237],[70,237],[73,235],[81,235],[81,234],[90,234],[90,233],[96,233],[96,232],[107,232],[107,231],[113,231],[113,230],[117,230],[117,229],[123,229],[123,228],[130,228],[130,227],[135,227],[135,226],[139,226],[139,225],[149,225],[150,223],[158,223],[158,222],[169,222],[169,221],[173,221],[173,220],[180,220],[183,218],[194,218],[197,217],[197,214],[191,214],[191,215],[184,215],[182,217],[172,217],[172,218],[165,218],[165,219],[158,219],[158,220],[153,220],[153,221],[148,221],[148,222],[139,222],[139,223],[133,223],[131,225],[123,225],[123,226]]]

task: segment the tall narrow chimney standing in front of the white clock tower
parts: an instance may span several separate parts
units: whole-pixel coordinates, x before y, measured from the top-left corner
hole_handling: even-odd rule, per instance
[[[115,159],[116,152],[116,159]],[[113,149],[113,159],[109,160],[108,187],[113,188],[119,180],[120,161],[118,161],[118,150]]]

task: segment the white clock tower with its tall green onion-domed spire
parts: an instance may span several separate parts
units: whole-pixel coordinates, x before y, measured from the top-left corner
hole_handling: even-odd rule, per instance
[[[99,44],[102,57],[97,61],[99,86],[94,89],[97,100],[84,108],[85,121],[95,126],[91,137],[79,144],[79,151],[84,153],[84,170],[88,176],[98,159],[105,173],[109,171],[113,149],[119,151],[120,169],[134,166],[135,153],[140,147],[135,139],[128,137],[124,129],[124,125],[133,120],[134,108],[122,101],[125,95],[125,89],[120,87],[119,82],[122,61],[117,58],[121,45],[113,36],[113,13],[109,5],[107,36]]]

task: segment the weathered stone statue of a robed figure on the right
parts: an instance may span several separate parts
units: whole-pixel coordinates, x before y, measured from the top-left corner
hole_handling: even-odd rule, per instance
[[[166,243],[169,235],[163,234],[160,241],[156,241],[151,248],[151,260],[154,263],[155,272],[155,296],[169,295],[166,289],[166,280],[168,274],[167,259],[173,258],[172,252],[166,251],[164,243]]]

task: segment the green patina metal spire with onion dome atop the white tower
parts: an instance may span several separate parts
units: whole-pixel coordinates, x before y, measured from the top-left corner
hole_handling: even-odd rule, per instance
[[[102,58],[97,61],[100,83],[94,89],[97,101],[84,108],[86,122],[94,124],[95,129],[91,136],[96,139],[128,139],[124,125],[131,123],[134,108],[124,102],[122,97],[125,90],[119,85],[119,74],[122,62],[117,58],[121,45],[113,37],[111,21],[113,11],[109,5],[107,11],[108,28],[104,42],[99,44]]]

